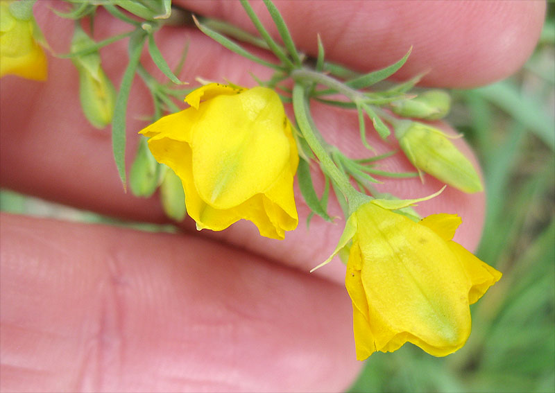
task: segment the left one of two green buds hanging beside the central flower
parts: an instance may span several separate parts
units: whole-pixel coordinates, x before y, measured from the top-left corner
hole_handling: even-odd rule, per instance
[[[139,141],[135,161],[129,173],[129,186],[135,196],[149,197],[160,184],[160,164],[148,149],[146,138]]]

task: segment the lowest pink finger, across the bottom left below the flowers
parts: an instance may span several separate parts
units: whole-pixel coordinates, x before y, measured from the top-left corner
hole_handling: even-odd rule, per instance
[[[344,288],[191,236],[1,217],[2,391],[341,391]]]

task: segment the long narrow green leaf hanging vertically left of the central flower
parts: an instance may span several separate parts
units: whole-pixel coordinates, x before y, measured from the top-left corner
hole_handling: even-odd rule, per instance
[[[116,161],[117,171],[123,184],[123,189],[127,188],[126,185],[126,114],[127,102],[135,76],[135,70],[139,65],[141,59],[141,52],[144,45],[146,36],[143,33],[137,32],[129,40],[129,63],[127,64],[126,71],[123,73],[121,85],[116,98],[116,105],[114,108],[114,117],[112,119],[112,149],[114,152],[114,160]]]

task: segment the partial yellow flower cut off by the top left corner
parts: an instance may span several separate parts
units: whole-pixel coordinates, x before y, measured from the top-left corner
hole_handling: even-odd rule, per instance
[[[46,55],[33,37],[35,28],[24,2],[0,1],[0,78],[12,74],[46,80]]]

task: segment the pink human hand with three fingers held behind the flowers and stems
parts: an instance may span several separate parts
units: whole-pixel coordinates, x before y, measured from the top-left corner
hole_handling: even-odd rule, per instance
[[[247,24],[239,3],[180,3]],[[543,3],[485,2],[277,6],[301,49],[314,53],[321,33],[330,60],[370,70],[397,60],[412,45],[400,77],[431,69],[425,82],[443,87],[481,85],[515,71],[533,49],[545,9]],[[37,3],[35,15],[48,42],[64,53],[72,24],[48,8],[46,1]],[[99,37],[123,30],[105,15],[96,28]],[[268,72],[193,28],[160,32],[157,40],[170,64],[176,64],[185,35],[191,39],[182,80],[203,76],[252,85],[246,71]],[[101,53],[105,70],[118,83],[124,44]],[[122,193],[110,135],[85,121],[70,62],[51,58],[49,65],[44,84],[12,77],[1,81],[2,186],[121,218],[164,222],[155,198]],[[137,118],[149,113],[149,105],[147,91],[136,84],[129,105],[130,148],[145,125]],[[364,154],[356,116],[321,107],[315,113],[330,141],[353,156]],[[411,170],[400,156],[387,164]],[[414,198],[441,184],[427,177],[423,186],[420,180],[387,186],[380,191]],[[339,215],[339,208],[332,209]],[[417,210],[422,216],[458,213],[463,225],[456,241],[470,250],[477,245],[482,194],[447,189]],[[298,211],[301,225],[285,241],[260,238],[249,222],[196,233],[186,220],[182,227],[189,232],[173,236],[3,215],[1,388],[344,389],[360,365],[354,360],[344,268],[332,263],[306,274],[331,254],[343,225],[314,218],[308,232],[303,225],[308,209],[300,200]]]

